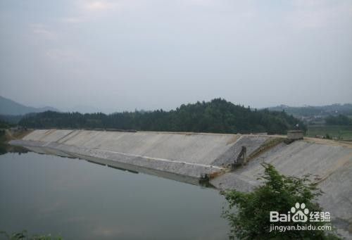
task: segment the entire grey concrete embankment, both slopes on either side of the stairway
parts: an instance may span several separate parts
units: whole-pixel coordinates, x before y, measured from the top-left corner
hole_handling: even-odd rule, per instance
[[[282,137],[241,134],[34,130],[10,143],[38,153],[83,158],[112,168],[146,172],[198,184],[210,176],[218,189],[251,191],[260,184],[260,163],[284,175],[310,174],[325,192],[321,206],[344,236],[352,232],[352,145],[304,139],[285,144]],[[242,146],[248,163],[234,170]]]

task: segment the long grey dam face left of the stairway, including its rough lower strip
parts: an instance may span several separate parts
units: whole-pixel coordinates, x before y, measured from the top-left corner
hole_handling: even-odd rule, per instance
[[[239,134],[34,130],[11,144],[44,153],[108,160],[199,179],[203,175],[225,172],[242,146],[247,146],[250,154],[269,138]]]

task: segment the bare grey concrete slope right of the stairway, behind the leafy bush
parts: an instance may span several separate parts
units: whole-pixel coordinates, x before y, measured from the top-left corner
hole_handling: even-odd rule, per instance
[[[318,199],[320,205],[331,213],[340,232],[352,239],[352,146],[315,143],[311,139],[282,143],[210,183],[219,189],[251,191],[260,184],[257,178],[264,172],[260,163],[270,163],[284,175],[310,174],[324,191]]]

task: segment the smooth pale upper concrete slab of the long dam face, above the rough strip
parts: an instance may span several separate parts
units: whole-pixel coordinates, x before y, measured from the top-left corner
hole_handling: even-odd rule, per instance
[[[233,139],[238,137],[233,134],[35,130],[23,140],[57,142],[87,149],[210,165],[221,153],[230,149]]]

